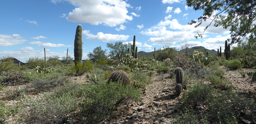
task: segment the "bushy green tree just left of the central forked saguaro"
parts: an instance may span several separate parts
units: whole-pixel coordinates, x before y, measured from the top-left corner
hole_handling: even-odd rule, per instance
[[[107,43],[109,49],[109,57],[114,60],[120,60],[121,57],[127,55],[127,49],[131,46],[130,44],[123,44],[121,41],[113,43]],[[135,51],[135,48],[134,50]]]

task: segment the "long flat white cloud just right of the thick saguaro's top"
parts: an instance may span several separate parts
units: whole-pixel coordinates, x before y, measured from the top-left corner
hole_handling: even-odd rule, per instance
[[[122,41],[127,40],[130,36],[129,35],[117,35],[117,34],[107,34],[99,32],[96,35],[90,33],[90,30],[84,30],[83,34],[87,36],[87,39],[89,40],[99,40],[103,42],[109,42],[109,41]]]

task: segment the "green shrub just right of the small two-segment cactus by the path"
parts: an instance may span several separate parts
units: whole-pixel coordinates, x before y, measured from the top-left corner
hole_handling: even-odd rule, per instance
[[[196,108],[199,102],[207,102],[209,97],[212,97],[214,88],[211,85],[199,82],[194,84],[188,91],[184,93],[182,106],[184,108]]]

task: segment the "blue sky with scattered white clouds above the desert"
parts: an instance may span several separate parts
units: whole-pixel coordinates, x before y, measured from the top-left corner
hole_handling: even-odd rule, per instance
[[[138,51],[151,52],[180,43],[217,51],[230,38],[229,29],[213,27],[194,38],[211,20],[198,28],[189,25],[202,16],[186,6],[185,0],[1,0],[0,58],[14,57],[26,62],[31,57],[70,55],[74,58],[74,39],[82,25],[83,56],[107,43],[133,42]],[[224,48],[223,48],[224,49]]]

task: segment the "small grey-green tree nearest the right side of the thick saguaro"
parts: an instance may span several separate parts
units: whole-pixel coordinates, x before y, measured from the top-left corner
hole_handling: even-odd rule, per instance
[[[101,46],[93,49],[93,52],[89,52],[88,59],[92,62],[97,62],[98,60],[106,60],[108,56],[106,55],[107,50],[102,50]]]

